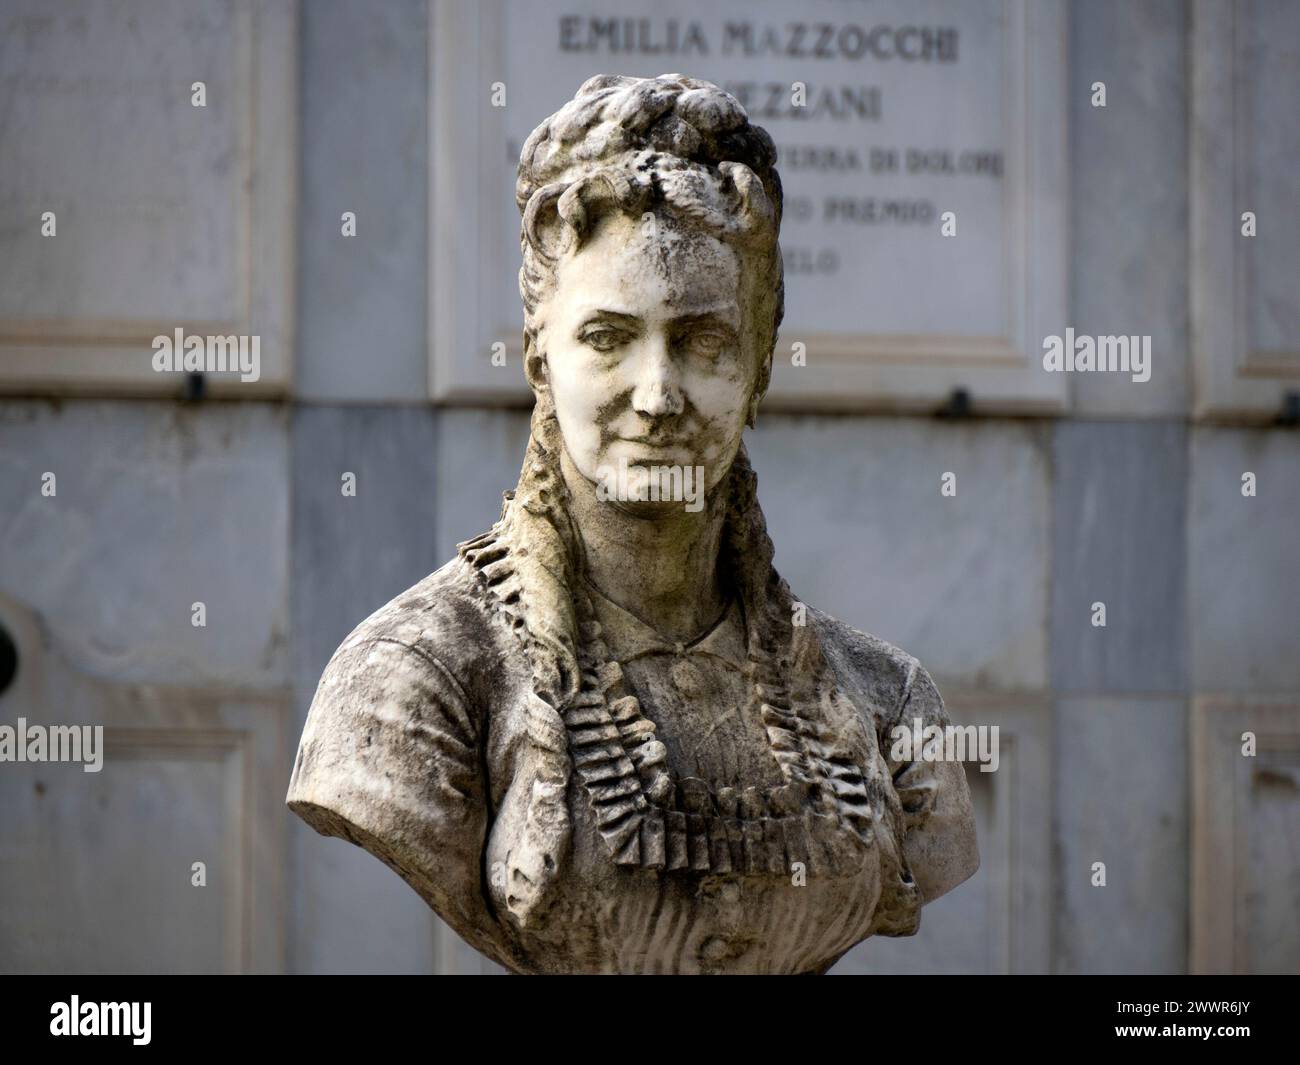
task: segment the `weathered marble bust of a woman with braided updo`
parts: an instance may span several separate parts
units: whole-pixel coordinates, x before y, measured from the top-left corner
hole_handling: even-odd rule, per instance
[[[772,567],[742,434],[775,161],[681,74],[592,78],[533,131],[517,486],[308,714],[289,806],[517,973],[823,973],[979,865],[962,765],[890,757],[948,723],[930,675]]]

